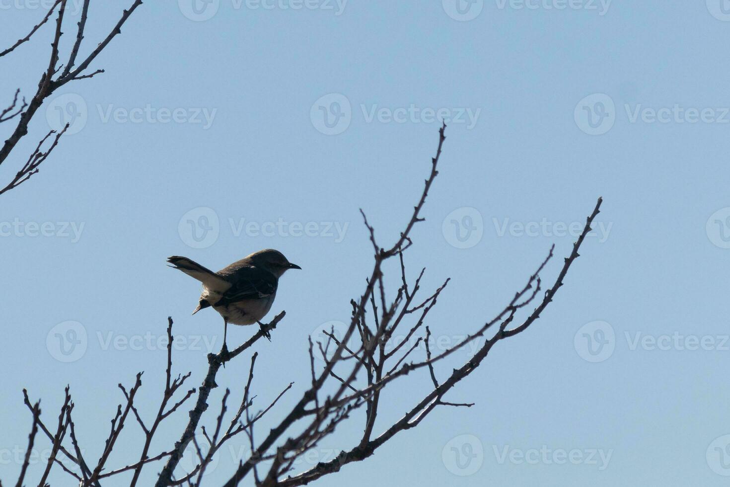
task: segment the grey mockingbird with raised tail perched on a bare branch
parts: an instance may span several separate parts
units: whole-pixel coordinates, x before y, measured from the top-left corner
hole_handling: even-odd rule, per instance
[[[258,323],[263,329],[261,318],[272,307],[279,277],[288,269],[301,269],[291,264],[279,250],[272,248],[254,252],[218,272],[212,272],[187,257],[172,256],[167,261],[174,269],[180,269],[203,283],[200,302],[193,315],[212,306],[223,316],[223,350],[228,350],[228,323]],[[266,338],[271,340],[268,332]]]

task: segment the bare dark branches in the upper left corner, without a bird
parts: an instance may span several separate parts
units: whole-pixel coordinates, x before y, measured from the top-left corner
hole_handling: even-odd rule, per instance
[[[69,83],[69,81],[84,80],[104,72],[104,69],[96,69],[96,71],[88,72],[88,68],[92,61],[96,59],[96,56],[104,50],[104,47],[107,47],[112,39],[114,39],[117,34],[121,33],[121,28],[126,20],[132,12],[134,12],[134,10],[142,4],[142,0],[134,0],[131,7],[123,11],[122,17],[112,28],[107,37],[102,39],[101,42],[99,42],[99,45],[97,45],[91,53],[77,64],[77,56],[79,55],[82,40],[84,39],[84,30],[88,19],[88,9],[89,4],[91,3],[91,0],[84,0],[81,9],[81,18],[77,23],[76,39],[73,47],[68,55],[66,63],[59,65],[58,63],[61,61],[59,44],[61,42],[61,36],[64,34],[64,15],[66,14],[67,2],[68,0],[55,0],[45,17],[42,18],[37,25],[31,28],[31,31],[28,32],[26,37],[18,39],[15,44],[8,47],[6,50],[0,51],[1,58],[4,55],[14,52],[18,47],[30,41],[31,37],[36,34],[39,28],[47,23],[47,21],[53,16],[53,12],[58,9],[55,20],[53,42],[51,42],[50,59],[40,76],[36,92],[31,97],[30,101],[26,101],[25,97],[20,98],[20,88],[18,88],[12,96],[12,101],[7,105],[7,107],[0,108],[0,123],[10,122],[11,120],[16,123],[15,129],[12,130],[10,137],[6,139],[4,144],[0,147],[0,166],[10,156],[10,153],[13,149],[15,149],[15,146],[18,145],[20,139],[28,134],[28,124],[31,122],[33,115],[36,114],[45,99],[51,96],[56,90],[58,90],[58,88]],[[35,150],[28,157],[26,163],[20,167],[20,171],[15,174],[15,177],[13,177],[7,185],[0,188],[0,194],[10,191],[13,188],[17,188],[18,185],[25,183],[32,175],[36,174],[39,171],[38,168],[41,163],[46,160],[51,151],[56,145],[58,145],[58,139],[61,138],[68,128],[69,124],[66,123],[64,129],[61,129],[58,133],[55,130],[48,132],[48,134],[41,139]],[[45,142],[48,139],[50,139],[50,143],[46,148],[44,148]]]

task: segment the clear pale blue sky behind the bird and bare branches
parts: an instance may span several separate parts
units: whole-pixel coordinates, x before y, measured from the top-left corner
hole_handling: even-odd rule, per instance
[[[128,3],[94,2],[87,49]],[[122,399],[117,383],[139,370],[139,404],[152,415],[168,315],[181,340],[177,371],[192,370],[198,385],[222,320],[190,315],[199,286],[165,266],[171,255],[220,269],[277,248],[301,265],[272,308],[286,310],[285,321],[256,345],[257,406],[293,380],[274,411],[291,406],[307,385],[307,335],[346,321],[369,273],[358,209],[383,245],[396,239],[446,118],[440,175],[407,255],[413,277],[427,268],[424,290],[452,278],[428,323],[445,343],[499,312],[553,243],[543,279],[554,280],[572,229],[603,196],[599,225],[542,317],[447,397],[475,407],[436,410],[318,483],[724,485],[726,3],[146,2],[94,62],[107,72],[48,99],[0,168],[9,180],[49,126],[72,122],[41,172],[2,196],[0,478],[15,481],[15,452],[26,445],[23,388],[52,421],[68,383],[92,457]],[[34,1],[0,0],[3,44],[43,13]],[[50,32],[0,60],[4,99],[16,88],[30,95]],[[234,327],[228,340],[251,333]],[[247,365],[242,357],[219,375],[233,401]],[[430,380],[422,372],[400,384],[376,431]],[[164,425],[153,453],[185,418]],[[349,448],[361,423],[308,464]],[[141,442],[130,421],[111,464]],[[245,445],[223,452],[212,485]],[[53,485],[66,485],[64,475]]]

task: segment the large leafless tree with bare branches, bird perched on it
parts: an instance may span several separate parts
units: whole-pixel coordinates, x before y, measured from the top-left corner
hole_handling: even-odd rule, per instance
[[[536,269],[532,275],[526,277],[525,285],[516,291],[510,302],[505,304],[493,317],[488,318],[480,326],[476,326],[470,334],[455,345],[443,350],[431,350],[429,340],[431,329],[426,325],[426,321],[429,312],[436,305],[449,280],[446,279],[441,286],[424,296],[420,292],[424,270],[420,271],[415,280],[410,279],[405,264],[405,254],[412,245],[412,229],[417,223],[423,221],[421,210],[431,190],[431,185],[438,175],[437,167],[444,142],[445,125],[439,130],[437,152],[431,159],[431,170],[420,198],[415,204],[410,220],[407,221],[403,231],[392,245],[380,246],[375,237],[374,228],[368,222],[365,213],[362,213],[372,243],[372,269],[369,277],[366,278],[364,291],[357,299],[351,301],[352,317],[345,333],[337,337],[334,329],[331,329],[326,332],[326,340],[313,341],[310,337],[309,364],[307,365],[310,369],[311,382],[306,387],[295,389],[293,383],[282,384],[280,393],[268,398],[263,410],[254,412],[252,384],[258,353],[253,353],[250,357],[250,372],[243,391],[242,402],[233,415],[228,415],[230,391],[226,388],[215,419],[215,429],[212,432],[207,431],[204,426],[201,426],[201,417],[209,407],[210,392],[218,386],[216,375],[220,367],[227,361],[234,360],[237,356],[247,352],[261,337],[274,330],[283,320],[285,313],[281,312],[271,323],[263,326],[247,342],[231,352],[210,353],[207,356],[208,370],[201,386],[197,389],[193,388],[185,394],[178,394],[180,397],[177,400],[173,399],[173,396],[183,387],[190,374],[173,378],[172,319],[169,318],[166,383],[162,392],[161,404],[153,421],[149,423],[143,420],[143,414],[135,404],[135,397],[142,384],[142,373],[140,372],[137,374],[134,385],[128,391],[119,385],[125,402],[119,405],[112,419],[112,427],[104,451],[94,467],[91,467],[91,464],[88,464],[81,454],[82,450],[74,432],[74,422],[72,421],[74,403],[71,401],[69,389],[66,388],[66,399],[61,408],[61,414],[58,416],[55,432],[50,431],[42,421],[39,404],[32,404],[28,395],[25,394],[26,405],[33,416],[28,449],[34,444],[34,437],[38,429],[52,442],[53,453],[42,474],[41,485],[45,482],[51,467],[58,464],[69,475],[72,475],[80,486],[99,486],[101,480],[125,472],[133,472],[130,485],[135,486],[143,467],[154,461],[164,460],[164,466],[157,476],[155,484],[157,487],[183,484],[201,486],[203,474],[221,446],[238,437],[245,439],[243,441],[250,445],[251,453],[248,458],[239,461],[237,468],[231,472],[231,477],[224,486],[237,486],[246,478],[249,478],[251,483],[255,483],[256,486],[302,486],[325,475],[338,472],[347,464],[364,461],[396,434],[418,426],[437,407],[472,407],[471,403],[447,400],[447,396],[452,388],[483,363],[493,346],[528,329],[553,301],[558,289],[564,284],[569,268],[579,256],[578,252],[583,240],[591,231],[591,223],[599,213],[602,199],[598,200],[593,212],[586,219],[580,237],[573,245],[570,255],[564,259],[555,280],[549,285],[545,285],[541,277],[548,261],[553,258],[553,247],[550,248],[542,262],[536,263]],[[399,279],[396,280],[399,282],[399,287],[392,295],[385,290],[385,268],[389,261],[393,261],[393,269],[399,269],[400,274]],[[532,308],[531,311],[528,311],[530,308]],[[521,318],[518,318],[520,316]],[[405,339],[392,348],[386,346],[396,331],[401,331],[401,333],[404,331]],[[442,364],[445,358],[454,359],[458,350],[464,350],[466,345],[475,343],[480,345],[479,348],[461,367],[451,369],[450,372],[442,371],[439,364]],[[425,350],[419,348],[419,345],[423,345]],[[422,350],[423,356],[418,356]],[[318,357],[323,360],[323,364],[320,366],[315,361],[315,358]],[[383,391],[397,381],[407,380],[407,376],[411,372],[418,373],[421,370],[430,377],[431,387],[423,391],[422,397],[407,405],[407,413],[398,421],[385,424],[377,421],[380,410],[395,410],[403,407],[402,404],[385,402]],[[364,375],[366,382],[358,382],[358,375]],[[296,391],[299,399],[290,410],[280,410],[277,402],[289,391],[291,394]],[[183,404],[195,394],[195,404],[188,412],[188,421],[179,439],[174,444],[172,444],[173,440],[169,440],[171,446],[168,450],[150,456],[150,443],[158,425],[173,413],[181,410]],[[354,414],[356,410],[361,410],[362,413],[356,415]],[[131,463],[125,467],[106,469],[107,459],[123,426],[128,421],[129,413],[136,418],[145,434],[144,447],[139,456],[132,459]],[[268,420],[272,419],[272,415],[277,415],[274,427],[264,432],[260,440],[256,440],[257,436],[254,434],[256,423],[267,414],[269,414]],[[330,461],[320,462],[303,472],[295,471],[296,459],[299,459],[308,450],[316,448],[324,438],[337,432],[338,426],[346,421],[363,421],[362,434],[349,441],[342,437],[344,435],[338,435],[336,438],[342,451],[337,457]],[[64,447],[66,432],[69,432],[70,448]],[[201,448],[196,440],[196,434],[199,432],[207,442],[207,453],[203,453],[204,448]],[[241,433],[244,433],[245,436]],[[68,441],[65,442],[66,445],[68,443]],[[185,477],[174,478],[174,471],[183,458],[183,452],[191,443],[197,452],[198,465]],[[74,469],[80,471],[80,475],[72,472],[72,469],[68,467],[69,462],[76,465]],[[18,486],[22,485],[23,475],[26,474],[27,469],[26,456]]]

